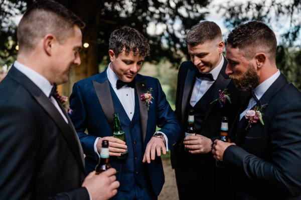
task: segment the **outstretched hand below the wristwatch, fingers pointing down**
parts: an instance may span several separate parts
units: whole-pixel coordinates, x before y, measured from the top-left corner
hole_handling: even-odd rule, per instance
[[[155,159],[156,151],[157,155],[161,156],[161,150],[163,154],[166,154],[166,147],[163,139],[159,137],[152,137],[146,145],[142,162],[147,161],[147,163],[150,163],[150,159]]]

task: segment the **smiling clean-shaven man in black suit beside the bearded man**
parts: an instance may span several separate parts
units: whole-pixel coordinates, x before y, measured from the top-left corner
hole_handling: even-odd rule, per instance
[[[176,94],[176,113],[184,131],[171,154],[179,198],[212,199],[215,193],[226,199],[224,192],[215,192],[216,188],[224,188],[227,177],[226,171],[216,166],[211,143],[220,134],[223,116],[228,116],[229,125],[232,124],[239,92],[225,74],[227,60],[222,55],[225,44],[216,23],[202,21],[194,25],[186,43],[191,61],[180,66]],[[201,77],[206,74],[211,77]],[[216,100],[225,89],[231,103],[228,99]],[[185,137],[189,109],[194,109],[197,135]],[[184,144],[189,152],[184,150]]]

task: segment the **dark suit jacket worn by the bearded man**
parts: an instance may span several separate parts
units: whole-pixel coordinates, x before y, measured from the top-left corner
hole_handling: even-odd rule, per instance
[[[246,130],[245,120],[230,130],[238,145],[223,160],[234,171],[232,198],[301,199],[301,93],[280,74],[260,101],[264,125]]]

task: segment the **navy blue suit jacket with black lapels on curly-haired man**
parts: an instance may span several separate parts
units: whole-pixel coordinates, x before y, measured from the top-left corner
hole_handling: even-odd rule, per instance
[[[107,69],[106,69],[107,70]],[[114,107],[107,78],[107,72],[93,75],[89,78],[76,82],[70,96],[70,107],[73,112],[70,115],[75,129],[83,146],[86,168],[92,170],[98,160],[98,155],[94,151],[94,142],[96,137],[113,136],[113,116]],[[135,76],[136,95],[139,98],[140,125],[144,150],[147,142],[156,132],[156,125],[161,128],[168,137],[169,148],[177,141],[180,136],[180,122],[166,100],[166,95],[162,90],[161,84],[157,78],[137,74]],[[153,88],[153,103],[149,104],[147,110],[146,102],[140,100],[140,95],[145,93],[150,87]],[[88,130],[88,134],[84,133]],[[92,158],[93,157],[93,158]],[[114,157],[112,157],[114,158]],[[111,159],[110,159],[111,162]],[[116,166],[118,171],[122,161],[112,159],[112,165]],[[141,160],[142,162],[142,160]],[[153,188],[159,195],[164,184],[164,171],[161,157],[156,157],[147,169]],[[120,179],[117,174],[117,179]],[[120,187],[126,182],[120,182]]]

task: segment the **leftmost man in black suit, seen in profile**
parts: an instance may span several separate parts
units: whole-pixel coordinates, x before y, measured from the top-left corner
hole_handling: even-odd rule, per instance
[[[58,2],[33,4],[18,27],[17,61],[0,83],[0,198],[108,199],[116,170],[85,178],[82,147],[52,85],[80,64],[78,16]]]

